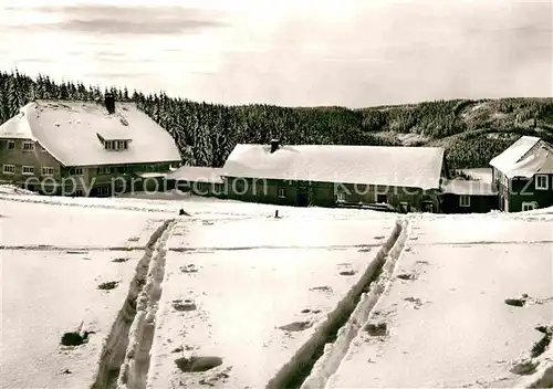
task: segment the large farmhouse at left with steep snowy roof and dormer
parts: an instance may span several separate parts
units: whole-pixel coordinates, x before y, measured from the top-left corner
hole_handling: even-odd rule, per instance
[[[139,190],[180,161],[167,130],[109,94],[103,104],[35,101],[0,126],[0,180],[45,195]]]

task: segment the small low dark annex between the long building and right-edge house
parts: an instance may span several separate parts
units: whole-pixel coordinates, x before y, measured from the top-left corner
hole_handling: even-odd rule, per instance
[[[495,186],[486,181],[446,180],[440,198],[442,213],[486,213],[499,209]]]

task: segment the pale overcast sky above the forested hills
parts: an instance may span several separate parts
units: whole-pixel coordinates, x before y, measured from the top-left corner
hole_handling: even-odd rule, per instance
[[[226,104],[552,96],[552,2],[2,0],[0,66]]]

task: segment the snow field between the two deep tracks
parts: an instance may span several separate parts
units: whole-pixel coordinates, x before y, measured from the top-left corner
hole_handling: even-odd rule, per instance
[[[316,337],[394,227],[394,220],[178,224],[168,241],[148,387],[265,387]],[[182,374],[176,364],[205,356],[221,365]]]

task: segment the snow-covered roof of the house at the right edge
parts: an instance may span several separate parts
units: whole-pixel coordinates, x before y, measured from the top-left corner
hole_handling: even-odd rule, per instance
[[[509,178],[553,174],[553,148],[539,137],[522,136],[490,165]]]

